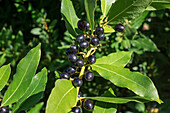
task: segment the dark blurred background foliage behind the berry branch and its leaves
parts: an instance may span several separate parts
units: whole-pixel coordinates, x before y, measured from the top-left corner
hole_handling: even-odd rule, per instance
[[[86,20],[83,0],[72,2],[78,18]],[[97,3],[95,22],[98,22],[97,18],[102,13],[100,2]],[[11,63],[13,75],[19,60],[41,42],[42,54],[38,72],[46,67],[48,81],[43,97],[31,108],[32,111],[33,109],[45,111],[47,99],[57,79],[55,71],[60,73],[71,65],[67,60],[65,49],[73,43],[72,36],[66,30],[63,21],[65,18],[62,18],[60,7],[60,0],[39,0],[38,3],[28,0],[0,0],[0,66]],[[166,107],[170,105],[168,101],[170,100],[170,10],[145,11],[138,19],[139,23],[136,24],[128,21],[124,23],[126,25],[124,37],[119,33],[107,34],[106,39],[102,41],[103,46],[96,52],[96,57],[122,50],[135,51],[133,61],[127,67],[132,71],[148,75],[164,101],[162,105],[155,102],[147,104],[130,102],[118,105],[118,112],[153,112],[159,109],[160,113],[166,113],[170,110]],[[11,83],[12,79],[10,76],[8,82]],[[119,96],[133,95],[129,90],[117,88],[109,81],[103,82],[103,80],[101,77],[95,77],[94,82],[85,82],[81,92],[84,96],[97,96],[111,86],[116,89],[115,93]],[[7,86],[8,84],[0,92],[0,98],[3,98]]]

